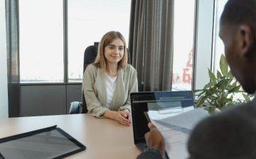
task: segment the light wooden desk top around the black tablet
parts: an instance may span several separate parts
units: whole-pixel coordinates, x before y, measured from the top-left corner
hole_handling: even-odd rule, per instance
[[[89,114],[0,119],[0,138],[53,125],[87,147],[68,158],[130,159],[140,153],[134,145],[132,126],[123,126],[111,119],[97,119]]]

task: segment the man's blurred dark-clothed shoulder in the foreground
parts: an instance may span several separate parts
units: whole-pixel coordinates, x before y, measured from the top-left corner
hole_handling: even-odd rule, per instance
[[[228,156],[228,153],[234,151],[236,155],[252,153],[250,146],[256,143],[255,114],[254,101],[209,116],[199,122],[191,132],[188,139],[189,153],[192,157],[212,155],[215,158]],[[240,150],[240,146],[245,149]],[[256,146],[253,150],[256,150]],[[202,154],[203,152],[207,153]]]

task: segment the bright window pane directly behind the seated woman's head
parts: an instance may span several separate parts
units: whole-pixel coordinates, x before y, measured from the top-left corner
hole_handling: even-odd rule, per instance
[[[128,42],[130,0],[68,1],[68,81],[82,81],[85,48],[108,31],[119,31]],[[128,43],[127,43],[128,44]]]

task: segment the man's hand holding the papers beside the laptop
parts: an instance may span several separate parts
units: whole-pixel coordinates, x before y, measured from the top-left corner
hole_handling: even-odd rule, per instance
[[[165,155],[165,143],[164,143],[164,137],[161,135],[161,133],[156,129],[156,126],[149,123],[149,132],[145,133],[146,138],[146,145],[148,148],[154,148],[156,150],[159,150],[161,155]]]

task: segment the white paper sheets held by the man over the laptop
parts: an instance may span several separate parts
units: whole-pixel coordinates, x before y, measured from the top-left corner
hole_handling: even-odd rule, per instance
[[[193,109],[188,107],[182,112],[174,110],[169,114],[159,114],[156,111],[148,111],[151,122],[164,136],[166,152],[169,158],[188,158],[187,141],[194,126],[203,118],[209,116],[204,109]]]

